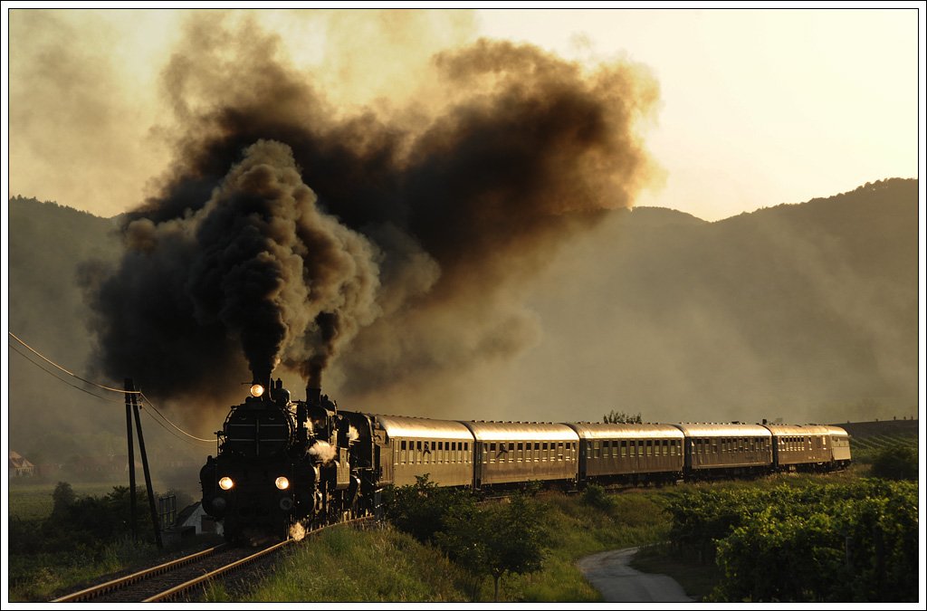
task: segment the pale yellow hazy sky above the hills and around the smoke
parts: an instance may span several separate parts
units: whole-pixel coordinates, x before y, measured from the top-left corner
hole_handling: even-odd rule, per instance
[[[924,18],[917,3],[902,6],[497,8],[444,19],[453,27],[423,31],[422,40],[396,41],[401,54],[359,51],[363,11],[351,11],[357,38],[347,41],[326,38],[324,19],[271,11],[260,19],[280,32],[298,65],[340,55],[342,70],[351,62],[370,70],[372,62],[403,58],[379,70],[381,82],[349,86],[349,76],[332,73],[341,99],[356,103],[389,95],[387,77],[415,70],[405,58],[425,61],[480,36],[582,62],[638,62],[660,86],[656,116],[642,132],[665,180],[637,203],[714,221],[919,175]],[[3,19],[9,196],[105,216],[132,208],[169,159],[158,139],[168,109],[157,77],[180,40],[183,15],[13,10]]]

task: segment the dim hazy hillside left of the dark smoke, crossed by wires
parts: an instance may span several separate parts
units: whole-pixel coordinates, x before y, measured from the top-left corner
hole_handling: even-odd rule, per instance
[[[46,358],[76,376],[86,376],[91,352],[87,306],[79,286],[79,265],[92,258],[115,261],[115,223],[79,210],[32,198],[9,200],[9,330]],[[44,363],[10,338],[12,436],[32,436],[49,428],[97,431],[119,426],[117,410],[44,373],[13,350],[69,382],[73,378]],[[67,398],[66,400],[63,398]],[[116,396],[115,399],[119,400]],[[124,417],[124,416],[123,416]],[[115,424],[114,424],[115,422]],[[121,424],[124,435],[125,424]],[[118,428],[117,428],[118,430]],[[22,443],[19,447],[24,447]]]

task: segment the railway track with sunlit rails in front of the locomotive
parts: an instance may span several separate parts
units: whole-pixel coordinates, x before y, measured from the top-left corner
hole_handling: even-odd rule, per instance
[[[358,518],[332,526],[360,524],[370,518]],[[324,530],[306,533],[308,538]],[[208,550],[171,560],[158,566],[72,592],[52,603],[156,603],[182,600],[195,590],[202,590],[213,579],[222,579],[243,567],[277,554],[290,544],[304,541],[287,539],[258,548],[223,543]]]

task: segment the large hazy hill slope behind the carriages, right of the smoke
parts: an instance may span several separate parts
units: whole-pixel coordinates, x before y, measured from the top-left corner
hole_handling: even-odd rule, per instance
[[[536,301],[558,323],[519,384],[537,382],[522,401],[545,417],[556,405],[659,422],[916,413],[916,180],[716,223],[621,211],[597,237]]]

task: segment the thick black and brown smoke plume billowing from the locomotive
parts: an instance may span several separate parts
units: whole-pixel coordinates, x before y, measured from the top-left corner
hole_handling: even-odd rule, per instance
[[[353,111],[256,32],[194,21],[163,73],[176,157],[88,274],[108,375],[164,396],[282,365],[356,392],[517,354],[519,288],[654,179],[645,70],[529,45],[438,54],[400,104]],[[250,41],[247,44],[242,41]],[[244,358],[244,361],[242,360]]]

